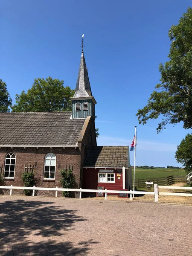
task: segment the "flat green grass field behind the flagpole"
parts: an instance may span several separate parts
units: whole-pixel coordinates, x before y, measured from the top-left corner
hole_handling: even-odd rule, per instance
[[[134,169],[132,168],[132,180],[133,180],[133,175],[134,175]],[[170,175],[185,176],[185,170],[183,170],[183,169],[167,169],[167,168],[155,168],[155,169],[135,168],[135,179],[136,180],[167,177]]]

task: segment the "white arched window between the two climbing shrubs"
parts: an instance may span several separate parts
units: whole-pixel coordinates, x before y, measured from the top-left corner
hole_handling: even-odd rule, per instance
[[[45,157],[44,164],[44,179],[55,179],[56,157],[49,153]]]

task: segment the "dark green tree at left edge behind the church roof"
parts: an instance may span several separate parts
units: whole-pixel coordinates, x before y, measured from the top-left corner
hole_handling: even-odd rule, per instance
[[[7,85],[0,79],[0,112],[9,112],[12,106],[12,99],[7,91]]]

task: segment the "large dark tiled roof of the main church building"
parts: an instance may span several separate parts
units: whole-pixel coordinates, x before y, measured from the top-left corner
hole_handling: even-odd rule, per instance
[[[85,119],[71,112],[0,113],[0,145],[76,145]]]

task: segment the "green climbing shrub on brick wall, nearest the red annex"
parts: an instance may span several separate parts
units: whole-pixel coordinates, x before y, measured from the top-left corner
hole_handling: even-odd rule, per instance
[[[75,183],[75,176],[73,175],[72,169],[62,169],[61,170],[61,179],[59,180],[61,183],[61,186],[64,189],[72,189],[73,185]],[[70,191],[63,191],[64,197],[71,197]]]

